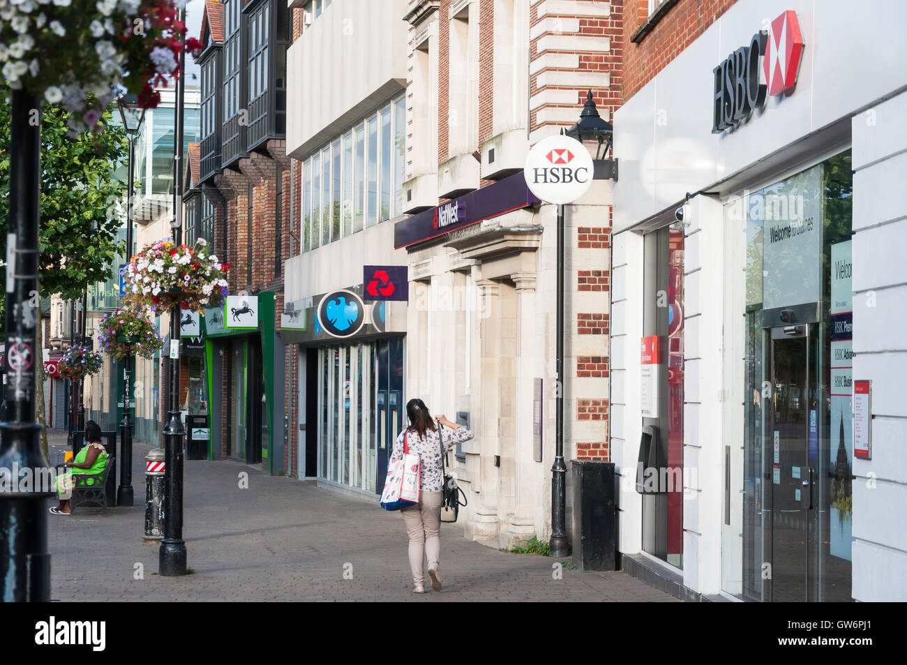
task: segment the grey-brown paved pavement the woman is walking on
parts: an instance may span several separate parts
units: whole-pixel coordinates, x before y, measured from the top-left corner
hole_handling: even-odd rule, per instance
[[[51,444],[53,461],[62,456],[65,436],[52,435]],[[442,526],[444,591],[432,592],[429,584],[416,595],[399,513],[227,461],[186,461],[183,537],[194,573],[162,577],[158,543],[141,537],[144,456],[151,446],[134,448],[135,507],[49,516],[53,600],[676,600],[622,572],[565,569],[554,579],[555,560],[473,543],[454,524]],[[239,488],[242,472],[249,474],[248,489]]]

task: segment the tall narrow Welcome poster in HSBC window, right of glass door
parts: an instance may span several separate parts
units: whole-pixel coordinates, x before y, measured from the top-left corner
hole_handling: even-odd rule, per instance
[[[831,256],[831,431],[829,468],[834,474],[831,490],[830,552],[851,560],[853,460],[853,291],[851,241],[832,245]],[[812,445],[812,429],[810,430]]]

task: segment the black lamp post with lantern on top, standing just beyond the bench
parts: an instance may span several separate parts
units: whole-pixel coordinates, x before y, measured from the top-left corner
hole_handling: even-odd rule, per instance
[[[126,260],[132,257],[132,191],[135,186],[132,171],[135,158],[135,140],[145,119],[145,110],[139,106],[138,95],[127,94],[117,103],[120,107],[122,126],[129,136],[129,189],[126,193]],[[132,414],[130,413],[130,382],[132,381],[132,347],[126,358],[126,367],[122,373],[122,420],[120,421],[120,487],[116,491],[117,505],[132,507]]]

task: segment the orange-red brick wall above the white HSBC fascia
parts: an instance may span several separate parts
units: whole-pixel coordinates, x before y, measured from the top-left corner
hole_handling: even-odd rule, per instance
[[[658,72],[680,54],[689,44],[715,23],[719,16],[736,3],[736,0],[679,0],[655,24],[639,44],[632,44],[629,38],[645,23],[648,16],[646,0],[624,0],[634,6],[628,12],[623,26],[623,41],[626,44],[623,60],[624,99],[629,99],[649,83]],[[754,28],[756,32],[757,27]],[[716,62],[717,64],[717,62]]]

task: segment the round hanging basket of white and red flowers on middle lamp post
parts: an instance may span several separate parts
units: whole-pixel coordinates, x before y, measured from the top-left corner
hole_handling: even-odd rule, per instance
[[[223,302],[228,269],[229,263],[208,253],[203,239],[193,247],[157,240],[141,248],[126,266],[126,298],[159,311],[180,305],[202,312]]]

